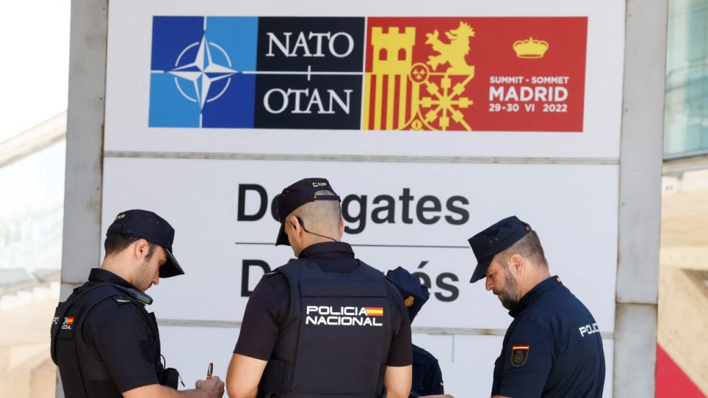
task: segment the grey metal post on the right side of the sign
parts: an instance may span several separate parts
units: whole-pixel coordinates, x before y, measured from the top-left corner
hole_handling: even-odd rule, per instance
[[[628,0],[615,305],[615,397],[653,397],[668,0]]]

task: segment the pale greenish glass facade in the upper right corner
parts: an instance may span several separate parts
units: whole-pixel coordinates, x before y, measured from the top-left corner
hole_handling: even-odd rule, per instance
[[[670,0],[664,158],[708,154],[708,0]]]

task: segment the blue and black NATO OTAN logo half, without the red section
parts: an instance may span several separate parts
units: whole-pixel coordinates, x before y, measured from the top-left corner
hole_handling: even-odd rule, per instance
[[[149,127],[361,125],[365,19],[154,16]]]

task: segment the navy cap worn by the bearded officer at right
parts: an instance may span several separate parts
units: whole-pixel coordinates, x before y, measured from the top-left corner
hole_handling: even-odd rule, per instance
[[[513,215],[467,239],[477,258],[477,266],[474,268],[469,283],[475,283],[484,278],[486,269],[489,268],[494,256],[515,244],[529,232],[531,232],[531,226]]]

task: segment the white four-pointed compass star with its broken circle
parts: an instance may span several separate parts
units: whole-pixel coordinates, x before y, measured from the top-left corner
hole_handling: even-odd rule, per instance
[[[198,46],[197,54],[190,62],[184,62],[184,59],[188,58],[185,54],[193,47]],[[212,59],[212,50],[210,48],[217,50],[222,53],[223,57],[227,61],[227,66],[217,64]],[[219,47],[216,43],[208,42],[207,36],[202,37],[201,42],[195,42],[188,47],[186,47],[177,57],[175,62],[175,68],[169,71],[169,74],[175,76],[175,84],[179,92],[187,98],[189,101],[199,103],[200,109],[204,108],[206,102],[216,101],[221,97],[225,91],[229,88],[231,84],[231,76],[236,74],[234,69],[231,69],[231,59],[229,55],[224,51],[222,47]],[[217,90],[212,89],[212,83],[222,79],[227,79],[226,84],[223,88],[215,94]],[[180,81],[185,81],[194,86],[195,96],[193,98],[189,96],[182,89]],[[211,95],[211,96],[210,96]]]

